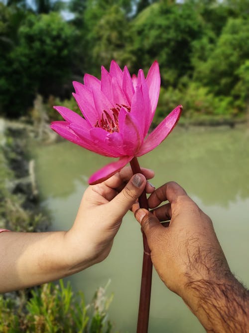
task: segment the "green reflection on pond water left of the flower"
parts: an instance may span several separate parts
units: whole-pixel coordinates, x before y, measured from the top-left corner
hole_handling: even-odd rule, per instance
[[[76,190],[78,182],[85,188],[93,170],[110,162],[67,141],[31,150],[36,160],[39,187],[46,197],[67,198]]]

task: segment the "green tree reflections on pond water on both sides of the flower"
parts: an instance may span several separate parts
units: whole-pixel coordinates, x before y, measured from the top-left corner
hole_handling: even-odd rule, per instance
[[[42,192],[67,197],[75,181],[87,178],[111,160],[68,142],[39,147],[37,173]],[[249,139],[244,129],[176,129],[154,151],[140,158],[156,171],[155,184],[176,180],[205,204],[228,206],[249,197]]]

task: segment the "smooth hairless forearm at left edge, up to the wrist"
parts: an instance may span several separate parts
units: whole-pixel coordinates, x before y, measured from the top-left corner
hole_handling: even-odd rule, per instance
[[[73,274],[73,253],[65,232],[0,235],[0,293],[39,285]],[[87,267],[87,264],[85,264]]]

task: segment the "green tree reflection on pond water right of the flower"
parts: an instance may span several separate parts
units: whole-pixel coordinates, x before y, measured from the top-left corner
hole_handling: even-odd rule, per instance
[[[249,197],[249,138],[244,129],[175,131],[143,165],[156,171],[155,182],[176,180],[205,204],[228,206]],[[159,178],[159,181],[158,181]]]

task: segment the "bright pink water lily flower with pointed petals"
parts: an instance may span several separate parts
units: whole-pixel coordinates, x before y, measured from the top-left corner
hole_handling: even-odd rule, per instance
[[[101,80],[85,74],[84,84],[73,82],[74,98],[84,116],[63,107],[54,108],[65,121],[52,122],[51,128],[63,138],[100,155],[120,158],[104,166],[90,179],[90,184],[101,182],[132,160],[157,147],[176,125],[181,106],[175,108],[149,135],[155,113],[160,72],[155,61],[144,77],[130,77],[113,60],[108,72],[101,68]]]

